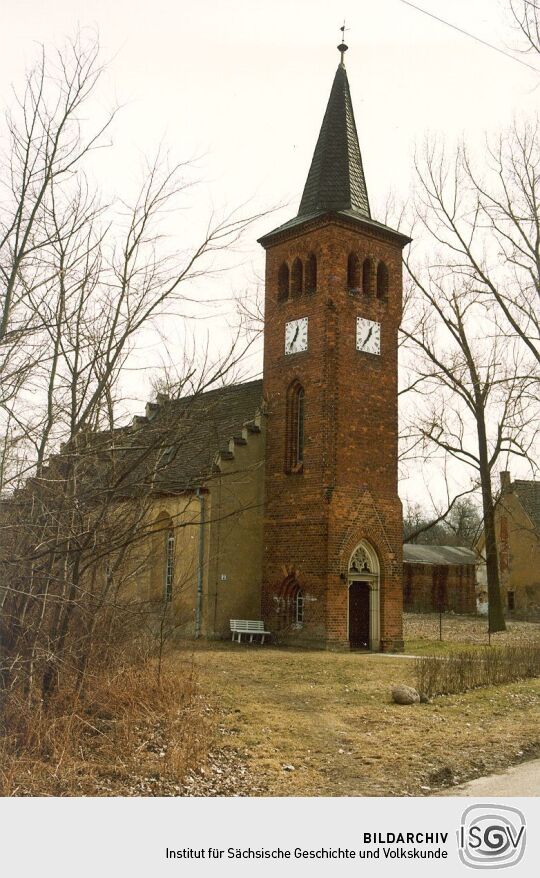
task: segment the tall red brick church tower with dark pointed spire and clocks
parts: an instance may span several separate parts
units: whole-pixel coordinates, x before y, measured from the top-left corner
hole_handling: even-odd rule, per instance
[[[298,215],[266,250],[263,614],[284,641],[399,650],[401,251],[371,218],[343,62]]]

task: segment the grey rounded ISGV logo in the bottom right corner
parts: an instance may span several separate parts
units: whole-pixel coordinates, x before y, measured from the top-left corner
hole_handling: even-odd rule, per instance
[[[504,869],[525,852],[525,817],[509,805],[471,805],[458,830],[462,863],[471,869]]]

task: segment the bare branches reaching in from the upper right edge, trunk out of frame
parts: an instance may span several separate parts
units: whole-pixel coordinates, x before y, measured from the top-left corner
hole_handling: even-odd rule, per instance
[[[498,329],[540,363],[540,149],[538,121],[514,123],[487,142],[483,170],[464,144],[447,156],[426,145],[419,218],[452,271],[482,301]]]

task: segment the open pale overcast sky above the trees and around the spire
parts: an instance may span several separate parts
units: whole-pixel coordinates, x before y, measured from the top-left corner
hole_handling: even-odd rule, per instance
[[[518,45],[505,0],[417,5],[510,52]],[[407,197],[414,147],[427,132],[450,141],[465,134],[481,145],[485,132],[536,112],[538,104],[540,73],[401,0],[1,0],[0,7],[3,103],[35,58],[36,43],[60,45],[77,27],[99,31],[109,62],[99,98],[103,106],[123,104],[114,150],[103,159],[112,189],[129,192],[141,157],[166,142],[178,159],[199,157],[193,227],[210,209],[246,201],[253,210],[288,205],[253,231],[240,264],[220,278],[224,299],[262,275],[257,235],[297,212],[339,61],[343,18],[375,218],[390,192]],[[255,353],[247,369],[257,374],[260,366]],[[142,403],[148,392],[141,381],[134,395]]]

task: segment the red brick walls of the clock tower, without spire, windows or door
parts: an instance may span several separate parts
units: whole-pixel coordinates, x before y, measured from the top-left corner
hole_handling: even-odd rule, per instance
[[[378,261],[388,294],[351,294],[347,259]],[[280,265],[317,258],[317,290],[279,302]],[[272,624],[286,576],[307,595],[295,639],[346,644],[347,568],[362,539],[381,565],[381,647],[402,645],[401,504],[397,495],[397,333],[401,319],[401,246],[367,226],[338,219],[306,224],[267,248],[264,394],[268,411],[263,612]],[[308,351],[285,355],[285,323],[308,317]],[[381,355],[356,350],[356,318],[381,323]],[[285,472],[286,394],[305,390],[301,474]]]

